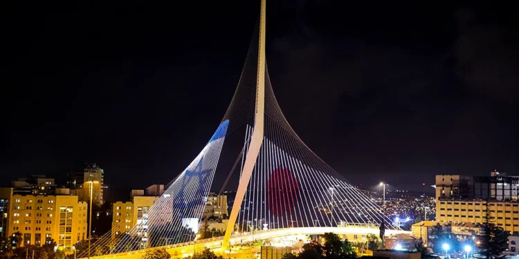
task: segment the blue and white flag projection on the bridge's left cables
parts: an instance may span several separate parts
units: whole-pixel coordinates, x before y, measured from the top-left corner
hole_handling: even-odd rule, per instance
[[[198,232],[228,124],[228,120],[221,122],[199,155],[143,215],[143,220],[125,233],[127,241],[120,243],[132,243],[133,250],[136,249],[134,246],[156,247],[193,239]],[[127,250],[127,247],[118,246],[115,252]]]

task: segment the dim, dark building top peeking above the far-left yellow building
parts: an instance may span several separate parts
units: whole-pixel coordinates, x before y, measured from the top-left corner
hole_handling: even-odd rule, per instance
[[[18,178],[12,181],[15,194],[54,194],[56,185],[53,178],[45,175],[30,175],[27,178]]]

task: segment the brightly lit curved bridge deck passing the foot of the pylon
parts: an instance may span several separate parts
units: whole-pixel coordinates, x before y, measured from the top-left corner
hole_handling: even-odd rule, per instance
[[[255,258],[255,253],[259,252],[259,246],[257,247],[244,247],[242,244],[253,243],[255,240],[271,240],[275,238],[284,238],[290,236],[301,236],[301,235],[320,235],[327,232],[333,232],[338,235],[346,235],[349,240],[352,240],[352,236],[358,235],[369,235],[374,234],[379,236],[378,227],[296,227],[287,229],[268,229],[262,231],[248,232],[248,233],[237,233],[230,238],[230,250],[224,251],[222,242],[224,237],[208,238],[203,240],[196,240],[193,242],[185,242],[180,244],[169,244],[162,247],[154,247],[150,249],[142,249],[136,251],[127,251],[122,253],[113,253],[104,256],[91,256],[94,259],[140,259],[148,250],[164,248],[168,253],[171,254],[172,259],[183,258],[186,256],[192,256],[193,253],[202,251],[206,247],[214,251],[217,255],[224,256],[224,258]],[[410,231],[386,229],[385,236],[391,236],[397,233],[407,233]],[[351,236],[351,237],[349,237]]]

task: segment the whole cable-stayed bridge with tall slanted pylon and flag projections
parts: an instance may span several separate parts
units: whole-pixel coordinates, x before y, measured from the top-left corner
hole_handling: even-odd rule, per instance
[[[228,249],[244,240],[298,233],[386,235],[401,233],[379,205],[358,191],[300,140],[277,104],[265,55],[266,3],[230,106],[202,151],[167,186],[131,229],[114,229],[96,241],[91,256],[136,256],[165,247],[179,256],[200,248]],[[309,103],[308,105],[311,105]],[[239,148],[227,144],[238,140]],[[228,148],[226,148],[228,146]],[[235,157],[232,168],[220,169],[221,155]],[[197,232],[215,176],[239,177],[234,206],[224,237],[197,240]],[[248,231],[248,227],[260,230]],[[119,227],[119,226],[118,226]],[[112,232],[113,232],[112,231]],[[78,258],[89,256],[86,251]]]

